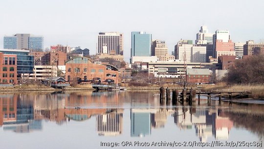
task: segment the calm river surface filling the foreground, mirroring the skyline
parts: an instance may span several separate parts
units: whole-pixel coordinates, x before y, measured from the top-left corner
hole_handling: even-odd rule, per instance
[[[0,149],[263,149],[263,104],[166,106],[157,93],[0,94]]]

